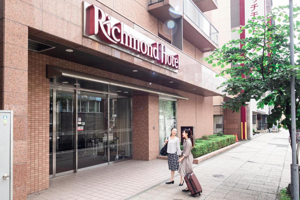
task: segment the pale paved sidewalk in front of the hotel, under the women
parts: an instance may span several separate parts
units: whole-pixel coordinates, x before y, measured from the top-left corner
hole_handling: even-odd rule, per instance
[[[193,165],[203,193],[193,198],[170,178],[166,160],[130,160],[50,179],[50,188],[28,199],[276,199],[290,182],[287,131],[264,133]],[[223,175],[216,178],[213,175]]]

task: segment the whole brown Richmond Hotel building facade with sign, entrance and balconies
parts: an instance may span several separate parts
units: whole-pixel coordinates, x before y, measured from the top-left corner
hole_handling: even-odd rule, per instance
[[[0,3],[14,199],[52,177],[155,159],[172,127],[213,134],[224,79],[201,59],[228,41],[229,0]]]

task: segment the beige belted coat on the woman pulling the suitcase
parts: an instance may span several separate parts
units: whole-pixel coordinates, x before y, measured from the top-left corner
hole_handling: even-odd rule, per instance
[[[185,157],[181,161],[182,168],[184,169],[184,172],[187,173],[192,173],[193,172],[193,154],[190,152],[193,148],[192,142],[190,139],[186,139],[183,142],[183,156]],[[184,173],[182,172],[181,167],[179,167],[178,173],[182,176],[185,176]]]

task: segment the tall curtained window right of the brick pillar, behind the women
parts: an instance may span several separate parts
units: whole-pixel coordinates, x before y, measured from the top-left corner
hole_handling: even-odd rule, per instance
[[[159,149],[163,148],[165,139],[171,129],[176,128],[176,101],[159,99]]]

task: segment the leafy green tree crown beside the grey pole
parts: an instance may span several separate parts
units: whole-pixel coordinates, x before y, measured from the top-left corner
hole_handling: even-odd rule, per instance
[[[290,65],[289,59],[289,16],[288,6],[274,8],[272,13],[256,16],[238,30],[238,34],[247,31],[250,37],[242,40],[231,40],[221,48],[214,50],[205,61],[220,66],[233,64],[220,72],[220,76],[230,75],[223,82],[223,92],[232,96],[223,102],[223,108],[238,112],[241,106],[251,99],[258,101],[257,108],[273,105],[274,109],[268,115],[268,128],[273,124],[289,130],[291,135],[291,98],[290,75],[295,75],[296,98],[296,127],[300,127],[300,45],[295,43],[295,55],[298,60],[295,66]],[[294,7],[294,19],[299,16],[300,7]],[[275,21],[276,24],[271,24]],[[280,23],[278,23],[280,22]],[[294,22],[294,37],[300,40],[300,22]],[[242,44],[242,48],[240,48]],[[244,74],[246,78],[242,78]],[[217,75],[217,76],[219,76]],[[265,94],[267,95],[265,96]],[[279,124],[281,117],[286,118]]]

